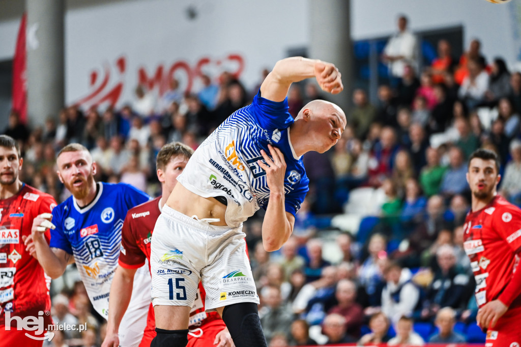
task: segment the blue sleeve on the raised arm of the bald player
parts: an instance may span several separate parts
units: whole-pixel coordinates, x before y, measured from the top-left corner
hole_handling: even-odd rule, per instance
[[[253,98],[257,122],[264,129],[285,129],[293,123],[293,117],[289,113],[288,98],[281,102],[275,102],[261,97],[261,90]]]

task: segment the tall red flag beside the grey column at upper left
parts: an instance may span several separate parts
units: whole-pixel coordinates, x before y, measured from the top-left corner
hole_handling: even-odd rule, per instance
[[[18,29],[13,59],[13,110],[20,114],[20,122],[23,124],[27,124],[26,20],[27,14],[24,13]]]

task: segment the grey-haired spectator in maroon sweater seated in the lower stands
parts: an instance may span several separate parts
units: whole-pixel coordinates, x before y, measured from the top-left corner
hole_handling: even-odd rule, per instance
[[[336,313],[345,318],[345,331],[352,338],[360,337],[364,309],[356,303],[356,284],[351,280],[340,280],[334,294],[338,304],[330,308],[328,315]]]

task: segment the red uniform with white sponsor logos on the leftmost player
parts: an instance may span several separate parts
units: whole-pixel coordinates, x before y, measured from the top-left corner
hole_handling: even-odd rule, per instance
[[[0,200],[0,345],[41,346],[43,341],[28,338],[42,337],[34,331],[17,330],[16,320],[11,320],[6,330],[5,312],[13,317],[43,317],[44,330],[52,324],[49,284],[43,268],[28,252],[22,235],[31,235],[34,218],[50,213],[56,206],[54,198],[27,184],[14,196]],[[51,238],[45,233],[47,242]],[[43,315],[38,315],[43,312]],[[45,331],[44,331],[45,332]]]

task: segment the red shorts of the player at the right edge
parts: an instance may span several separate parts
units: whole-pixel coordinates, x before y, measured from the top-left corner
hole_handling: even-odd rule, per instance
[[[487,330],[486,347],[520,347],[521,346],[521,307],[509,309],[497,322],[494,328]]]

